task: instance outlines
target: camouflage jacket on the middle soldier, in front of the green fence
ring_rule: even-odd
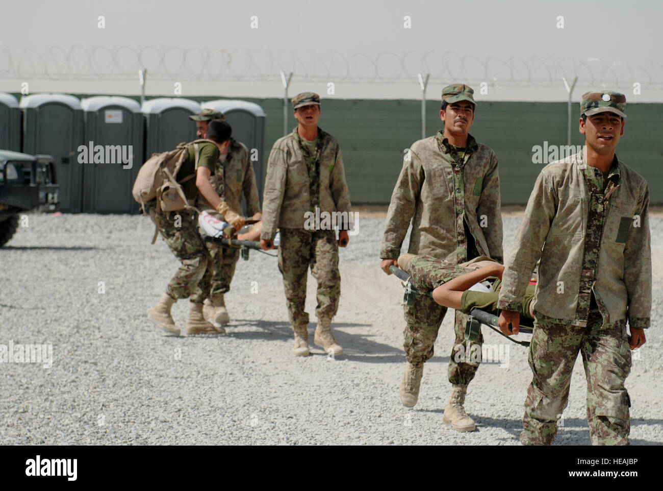
[[[267,162],[263,193],[261,239],[271,240],[276,228],[304,228],[311,211],[309,165],[298,142],[297,129],[276,140]],[[320,212],[351,213],[350,193],[345,182],[343,157],[338,141],[318,128],[321,142],[319,179]],[[345,216],[347,216],[345,215]]]

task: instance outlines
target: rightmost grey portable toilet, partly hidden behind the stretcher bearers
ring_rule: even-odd
[[[267,172],[267,156],[265,149],[265,111],[253,102],[219,99],[204,102],[203,109],[221,111],[225,120],[233,127],[233,138],[241,141],[249,149],[249,159],[253,164],[258,194],[261,204],[263,200],[263,183]]]

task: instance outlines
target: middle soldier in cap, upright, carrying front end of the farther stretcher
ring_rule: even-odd
[[[338,141],[318,127],[320,97],[304,92],[292,98],[292,106],[298,125],[290,135],[276,140],[267,163],[261,247],[272,246],[278,227],[278,269],[283,275],[294,330],[292,352],[296,356],[309,354],[304,303],[310,266],[318,280],[314,342],[326,352],[338,355],[343,348],[331,333],[331,318],[336,314],[341,294],[338,246],[345,247],[349,240],[350,194]],[[329,220],[324,220],[324,216],[338,216],[337,213],[343,217],[338,242]],[[312,223],[313,216],[323,220]]]

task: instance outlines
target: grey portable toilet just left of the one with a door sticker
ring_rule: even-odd
[[[23,96],[23,153],[53,156],[55,182],[60,185],[60,210],[82,211],[83,166],[78,147],[83,145],[83,109],[80,100],[64,94]]]

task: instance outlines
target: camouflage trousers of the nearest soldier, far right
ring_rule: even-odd
[[[587,377],[587,423],[592,445],[629,445],[631,400],[624,386],[631,372],[625,320],[604,324],[592,312],[586,327],[559,324],[536,315],[529,363],[523,445],[552,445],[557,419],[569,399],[571,374],[580,352]]]

